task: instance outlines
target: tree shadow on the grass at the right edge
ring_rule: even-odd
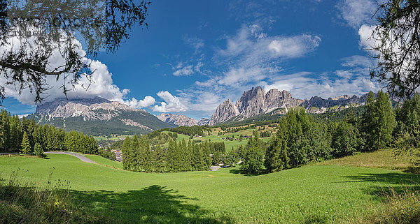
[[[389,195],[401,195],[420,191],[420,175],[409,173],[389,172],[384,174],[358,174],[346,176],[351,179],[345,182],[372,182],[381,185],[366,188],[366,193],[384,200]]]

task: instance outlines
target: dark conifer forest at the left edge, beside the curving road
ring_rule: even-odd
[[[83,154],[98,154],[97,143],[92,136],[77,131],[66,133],[62,128],[37,124],[34,119],[19,119],[6,110],[0,112],[0,151],[34,152],[75,151]]]

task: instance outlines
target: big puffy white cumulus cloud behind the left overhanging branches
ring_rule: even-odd
[[[30,38],[28,41],[32,41]],[[10,45],[1,45],[0,53],[8,52],[10,50],[18,50],[20,47],[21,40],[19,37],[10,38]],[[147,107],[151,105],[151,98],[146,97],[144,100],[124,100],[125,96],[130,92],[129,89],[120,89],[113,84],[112,73],[109,72],[108,67],[101,61],[88,59],[85,56],[85,52],[81,48],[81,44],[78,43],[78,54],[83,57],[85,64],[89,65],[90,70],[93,71],[92,75],[82,75],[78,83],[72,86],[69,82],[71,81],[66,76],[71,77],[71,74],[62,74],[57,80],[55,76],[47,75],[45,83],[48,84],[48,89],[44,91],[43,97],[45,102],[52,101],[55,98],[93,98],[99,96],[108,100],[115,100],[121,103],[127,103],[134,107]],[[28,49],[30,52],[34,49]],[[51,68],[57,68],[65,64],[62,55],[59,52],[59,47],[55,47],[51,57],[48,59],[48,64]],[[31,93],[30,89],[20,89],[15,84],[7,84],[8,79],[4,75],[0,75],[0,84],[5,89],[6,97],[15,98],[20,103],[25,105],[35,105],[35,95]],[[64,95],[63,86],[69,89],[67,95]],[[153,99],[154,100],[154,99]]]

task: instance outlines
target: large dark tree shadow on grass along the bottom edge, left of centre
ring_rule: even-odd
[[[212,217],[177,191],[153,185],[140,191],[73,191],[79,207],[112,216],[118,223],[235,223],[230,217]]]

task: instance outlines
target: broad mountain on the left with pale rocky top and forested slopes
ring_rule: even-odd
[[[55,98],[36,107],[34,118],[41,124],[52,124],[64,130],[79,130],[90,135],[140,135],[176,125],[160,121],[146,110],[134,109],[104,98]]]

